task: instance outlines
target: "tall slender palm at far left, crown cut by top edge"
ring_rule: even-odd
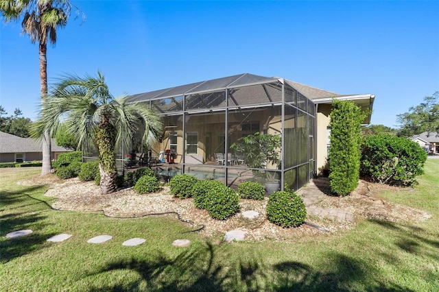
[[[0,0],[0,12],[5,22],[21,19],[23,33],[31,42],[38,42],[40,56],[41,98],[47,95],[47,40],[56,43],[56,29],[67,25],[71,12],[71,2],[67,0]],[[51,145],[49,133],[42,136],[43,167],[41,175],[51,170]]]

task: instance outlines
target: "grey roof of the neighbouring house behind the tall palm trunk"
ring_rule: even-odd
[[[0,132],[0,153],[29,153],[41,152],[41,142],[35,138],[22,138],[5,132]],[[51,139],[51,151],[71,151],[56,145],[55,139]]]

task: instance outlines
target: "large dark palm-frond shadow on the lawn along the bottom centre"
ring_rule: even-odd
[[[99,273],[116,270],[135,271],[140,279],[102,287],[97,284],[89,291],[411,291],[389,280],[379,282],[376,269],[368,263],[340,253],[328,253],[322,258],[327,271],[318,271],[304,263],[285,261],[276,265],[252,260],[216,260],[222,256],[217,247],[183,250],[176,258],[157,254],[150,260],[122,260],[108,263]],[[108,280],[111,282],[111,280]]]

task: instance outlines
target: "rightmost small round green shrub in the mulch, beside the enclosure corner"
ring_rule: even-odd
[[[307,217],[302,198],[286,191],[276,191],[270,195],[266,212],[270,222],[284,228],[300,226]]]

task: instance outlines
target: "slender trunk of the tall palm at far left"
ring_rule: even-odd
[[[41,85],[41,99],[47,96],[47,44],[40,42],[38,45],[38,53],[40,54],[40,85]],[[43,139],[43,167],[41,168],[41,175],[47,175],[51,172],[51,141],[49,131],[45,130]]]

